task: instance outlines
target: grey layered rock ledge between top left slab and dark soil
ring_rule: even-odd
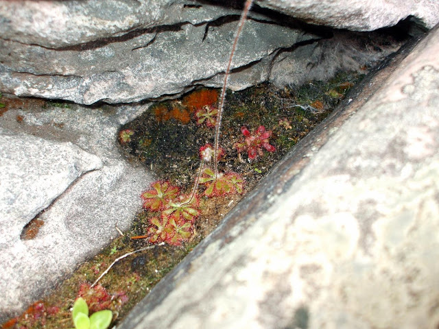
[[[224,71],[236,23],[211,27],[185,24],[87,50],[60,51],[2,40],[0,90],[85,104],[182,93]],[[279,48],[311,38],[319,37],[248,21],[233,68],[257,63]],[[256,79],[245,82],[244,87],[261,82],[258,75],[253,77]]]

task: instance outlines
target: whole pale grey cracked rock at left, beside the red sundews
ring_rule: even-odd
[[[146,108],[49,105],[3,113],[0,321],[97,254],[119,234],[115,226],[130,226],[152,178],[121,156],[117,131]],[[36,236],[21,238],[34,217],[43,226]]]

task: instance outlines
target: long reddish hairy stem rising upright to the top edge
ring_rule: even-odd
[[[219,149],[219,132],[221,131],[222,112],[224,110],[224,101],[226,99],[226,88],[228,83],[228,77],[230,75],[230,68],[232,66],[232,60],[233,60],[233,56],[235,55],[235,50],[238,44],[239,35],[242,32],[244,23],[246,22],[247,19],[247,14],[250,11],[250,8],[252,7],[252,3],[253,0],[247,0],[246,3],[244,4],[244,9],[242,10],[241,13],[241,19],[239,19],[235,40],[233,40],[232,50],[230,51],[230,57],[228,58],[227,69],[226,69],[226,73],[224,74],[224,82],[222,85],[221,95],[219,96],[217,123],[215,125],[215,153],[214,153],[215,158],[213,159],[214,168],[215,168],[215,179],[217,179],[217,175],[218,175],[217,155]]]

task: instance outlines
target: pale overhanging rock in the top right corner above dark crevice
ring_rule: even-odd
[[[307,23],[372,31],[396,25],[407,17],[431,29],[439,23],[439,3],[435,0],[255,0],[257,5],[302,19]]]

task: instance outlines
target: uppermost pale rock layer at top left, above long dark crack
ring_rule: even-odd
[[[187,0],[0,1],[2,39],[61,48],[130,38],[130,32],[163,25],[199,25],[239,14],[209,3]]]

